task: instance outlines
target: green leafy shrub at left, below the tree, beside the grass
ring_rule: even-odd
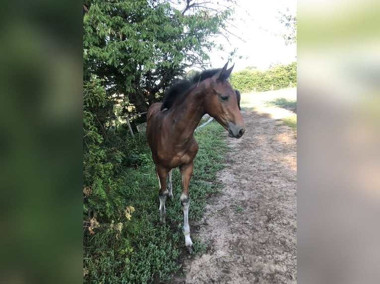
[[[112,217],[116,200],[109,193],[115,185],[114,174],[125,156],[107,141],[109,130],[104,125],[110,105],[100,82],[93,78],[83,88],[83,206],[89,216],[85,218],[87,221],[96,215],[107,216],[107,221]]]

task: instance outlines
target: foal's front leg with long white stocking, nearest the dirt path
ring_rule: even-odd
[[[190,183],[190,177],[192,174],[192,170],[194,168],[193,162],[190,162],[189,164],[182,165],[180,167],[181,172],[181,182],[182,182],[182,194],[180,197],[181,205],[182,205],[182,211],[184,213],[184,223],[182,232],[185,236],[185,246],[188,249],[188,252],[191,253],[191,245],[192,241],[190,238],[190,226],[189,226],[189,203],[190,203],[190,196],[189,196],[189,183]]]

